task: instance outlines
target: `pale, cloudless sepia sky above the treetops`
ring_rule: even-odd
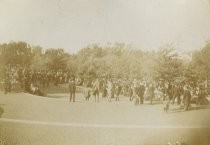
[[[210,41],[209,0],[0,0],[0,43],[78,52],[98,43],[181,52]]]

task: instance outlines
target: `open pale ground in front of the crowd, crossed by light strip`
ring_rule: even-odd
[[[161,102],[135,106],[121,97],[95,103],[77,93],[70,103],[63,92],[48,96],[0,92],[0,145],[210,144],[209,106],[183,112],[174,105],[164,113]]]

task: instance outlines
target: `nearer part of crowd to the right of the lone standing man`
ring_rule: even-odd
[[[129,101],[135,105],[143,104],[148,100],[153,104],[154,100],[163,101],[164,110],[167,112],[170,104],[182,105],[184,110],[191,108],[191,103],[196,105],[208,104],[206,97],[207,90],[203,85],[192,86],[191,83],[184,82],[148,82],[146,80],[126,80],[126,79],[95,79],[84,82],[84,97],[89,100],[91,96],[99,102],[102,99],[119,101],[119,96],[127,96]],[[70,85],[71,86],[71,85]]]

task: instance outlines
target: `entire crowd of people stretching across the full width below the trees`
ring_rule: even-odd
[[[43,96],[40,89],[49,85],[68,84],[70,101],[75,102],[76,88],[83,86],[86,101],[94,97],[96,102],[106,99],[120,101],[121,96],[129,98],[135,105],[144,104],[148,100],[153,104],[154,100],[163,101],[164,110],[167,112],[170,104],[183,105],[184,110],[189,110],[191,103],[197,105],[208,104],[207,91],[203,85],[191,85],[190,82],[175,81],[148,81],[146,79],[117,79],[117,78],[95,78],[81,79],[72,75],[69,71],[33,70],[27,67],[13,66],[1,68],[3,74],[1,84],[4,86],[5,94],[15,87],[25,92]]]

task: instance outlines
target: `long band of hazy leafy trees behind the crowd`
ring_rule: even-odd
[[[91,44],[75,54],[62,48],[43,49],[26,42],[0,44],[0,65],[34,70],[70,71],[83,78],[146,78],[167,81],[205,81],[210,74],[210,43],[183,59],[173,46],[143,51],[124,43]],[[3,74],[3,73],[1,73]]]

